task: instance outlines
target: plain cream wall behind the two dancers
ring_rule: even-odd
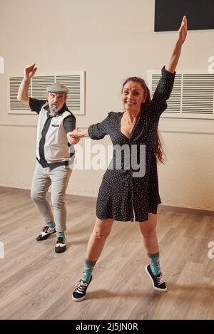
[[[88,127],[121,110],[121,84],[147,79],[170,56],[177,33],[154,33],[154,0],[1,0],[0,185],[31,187],[36,115],[8,115],[6,78],[36,62],[39,73],[86,71]],[[189,31],[178,69],[207,71],[214,31]],[[168,160],[159,168],[163,204],[213,209],[214,120],[161,119]],[[105,145],[109,139],[103,140]],[[95,142],[97,144],[97,142]],[[74,171],[68,193],[96,196],[103,171]]]

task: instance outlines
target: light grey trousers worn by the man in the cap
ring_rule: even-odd
[[[65,196],[69,178],[72,169],[69,166],[60,166],[54,169],[43,168],[39,162],[36,162],[36,169],[31,186],[31,199],[34,201],[37,209],[44,217],[45,223],[54,221],[56,231],[66,231],[66,206]],[[46,199],[46,193],[51,185],[51,203],[54,209],[54,215]]]

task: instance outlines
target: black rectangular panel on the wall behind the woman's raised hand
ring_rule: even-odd
[[[177,31],[184,15],[188,30],[214,29],[214,0],[156,0],[155,31]]]

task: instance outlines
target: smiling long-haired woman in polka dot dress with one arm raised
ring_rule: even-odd
[[[122,158],[123,166],[116,168],[116,159],[113,158],[114,165],[111,164],[111,168],[108,167],[103,176],[96,205],[96,223],[88,241],[81,279],[73,291],[73,301],[83,301],[86,298],[93,267],[101,255],[114,220],[138,221],[150,262],[146,266],[146,273],[156,291],[167,291],[161,274],[156,236],[157,207],[161,203],[158,193],[157,160],[163,162],[158,121],[161,113],[167,108],[166,100],[173,89],[175,68],[186,35],[187,19],[184,16],[172,56],[162,69],[162,76],[152,100],[144,80],[128,78],[123,83],[123,113],[109,113],[103,122],[91,125],[88,130],[77,128],[71,134],[73,144],[81,137],[89,136],[99,140],[105,135],[110,135],[113,147],[137,147],[138,159],[141,146],[146,145],[146,172],[143,176],[133,168],[124,168],[124,164],[127,163],[126,153]],[[133,155],[132,150],[130,152]],[[129,155],[129,162],[130,158]]]

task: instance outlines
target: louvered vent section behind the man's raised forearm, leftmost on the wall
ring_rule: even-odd
[[[11,110],[29,110],[23,103],[17,100],[17,94],[22,80],[23,77],[9,78]],[[31,96],[31,85],[29,86],[29,96]]]

